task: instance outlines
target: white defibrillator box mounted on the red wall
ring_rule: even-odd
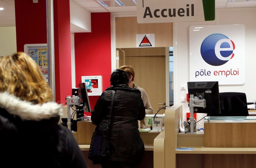
[[[82,76],[82,82],[85,82],[88,96],[102,94],[102,76]]]

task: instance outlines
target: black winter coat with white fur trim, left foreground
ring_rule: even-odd
[[[61,111],[55,102],[32,104],[0,93],[1,167],[86,168],[73,134],[58,124]]]

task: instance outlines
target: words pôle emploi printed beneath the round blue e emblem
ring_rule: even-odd
[[[213,72],[214,76],[226,76],[228,77],[229,75],[239,75],[239,70],[227,70],[227,71],[214,71]],[[205,69],[201,69],[200,72],[196,71],[196,77],[197,76],[211,76],[211,71],[206,71]]]

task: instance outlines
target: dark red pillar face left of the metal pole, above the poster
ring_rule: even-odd
[[[15,0],[17,51],[24,44],[47,43],[46,1]]]

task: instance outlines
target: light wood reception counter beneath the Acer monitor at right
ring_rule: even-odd
[[[165,131],[154,141],[155,168],[255,168],[256,120],[205,120],[204,132],[179,132],[181,106],[165,111]],[[179,150],[186,147],[193,150]]]

